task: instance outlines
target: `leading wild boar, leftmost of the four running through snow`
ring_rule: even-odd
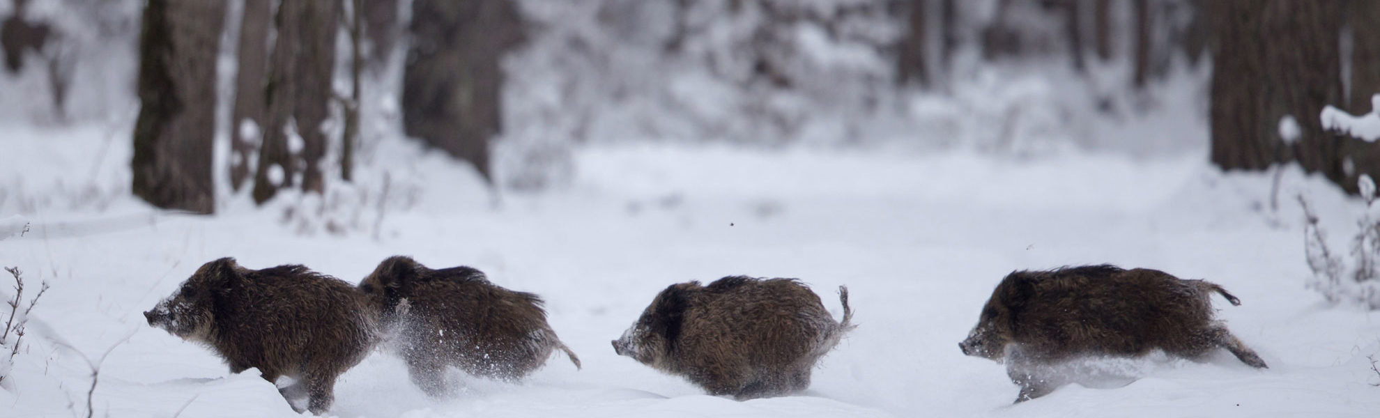
[[[306,397],[313,414],[330,410],[335,378],[368,355],[378,320],[349,283],[299,265],[251,270],[233,258],[201,265],[144,317],[210,346],[232,372],[257,367],[269,382],[297,379],[279,392],[298,412],[294,401]]]

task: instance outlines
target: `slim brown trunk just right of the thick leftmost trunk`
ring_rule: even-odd
[[[235,110],[230,113],[230,188],[239,190],[250,177],[255,139],[264,137],[264,73],[268,72],[268,29],[273,19],[269,0],[244,0],[240,22],[239,73]],[[244,138],[241,124],[254,123],[259,138]]]

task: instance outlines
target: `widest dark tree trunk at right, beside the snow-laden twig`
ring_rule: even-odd
[[[1264,170],[1294,159],[1357,192],[1358,172],[1377,172],[1373,146],[1323,132],[1325,105],[1341,103],[1340,1],[1209,1],[1213,28],[1212,161]],[[1293,116],[1301,138],[1285,148],[1278,124]],[[1347,170],[1347,167],[1352,167]]]

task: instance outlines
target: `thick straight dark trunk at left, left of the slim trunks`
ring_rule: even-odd
[[[149,0],[139,36],[134,195],[161,208],[215,211],[215,57],[225,3]]]

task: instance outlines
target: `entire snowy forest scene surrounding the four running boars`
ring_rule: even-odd
[[[1377,30],[1380,1],[0,0],[0,417],[298,415],[145,312],[224,257],[355,286],[392,255],[540,295],[581,367],[435,396],[393,335],[326,415],[1373,417]],[[1098,263],[1220,284],[1268,368],[1085,356],[1013,404],[959,342],[1013,270]],[[737,275],[835,320],[849,288],[809,389],[610,346]]]

